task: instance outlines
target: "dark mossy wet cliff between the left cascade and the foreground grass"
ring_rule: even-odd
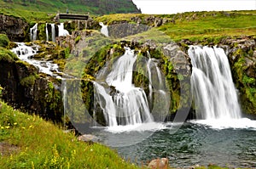
[[[61,92],[38,70],[21,61],[1,60],[3,99],[15,108],[59,122],[63,115]]]

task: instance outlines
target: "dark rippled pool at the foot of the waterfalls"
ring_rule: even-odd
[[[255,128],[214,129],[187,122],[176,131],[172,125],[169,126],[154,132],[106,132],[102,129],[95,134],[104,144],[116,149],[119,155],[138,164],[168,157],[170,166],[174,167],[207,166],[210,163],[229,167],[256,167]]]

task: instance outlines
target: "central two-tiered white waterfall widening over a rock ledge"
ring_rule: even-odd
[[[102,108],[109,127],[153,121],[146,93],[132,84],[132,70],[136,59],[137,55],[130,48],[125,48],[125,54],[119,57],[108,73],[108,85],[94,83],[95,103]],[[106,86],[114,89],[109,92],[109,87]]]

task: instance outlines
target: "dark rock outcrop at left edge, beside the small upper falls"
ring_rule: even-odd
[[[26,21],[0,14],[0,33],[6,34],[10,41],[23,42],[25,40],[25,31],[28,28]]]

